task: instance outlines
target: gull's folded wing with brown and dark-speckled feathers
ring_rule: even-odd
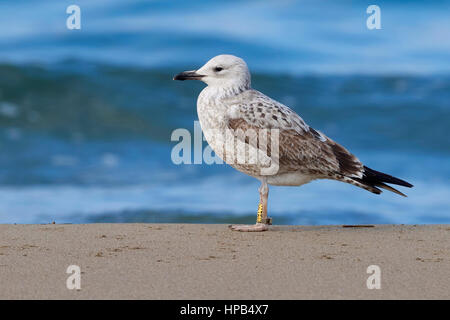
[[[336,174],[355,178],[362,176],[363,165],[348,150],[309,127],[287,106],[256,90],[249,91],[235,103],[231,101],[233,108],[228,128],[235,131],[278,129],[279,173],[300,171],[323,178],[334,178]]]

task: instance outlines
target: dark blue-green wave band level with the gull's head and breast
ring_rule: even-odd
[[[202,88],[175,83],[174,73],[83,62],[0,65],[0,143],[21,133],[169,143],[174,129],[192,129]],[[257,73],[253,84],[350,147],[450,152],[450,76]]]

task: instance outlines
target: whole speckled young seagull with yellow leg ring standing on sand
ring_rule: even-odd
[[[200,80],[207,85],[197,100],[198,118],[206,141],[227,164],[261,181],[256,224],[231,225],[231,230],[269,229],[272,219],[267,216],[268,185],[301,186],[316,179],[331,179],[375,194],[385,189],[405,197],[387,183],[412,187],[404,180],[366,167],[343,146],[307,125],[292,109],[252,89],[247,64],[239,57],[218,55],[200,69],[181,72],[173,80]],[[221,130],[233,135],[217,134]],[[258,135],[256,143],[255,139],[236,134],[248,130],[270,132],[266,133],[265,140],[264,135]],[[267,140],[275,136],[275,148],[272,144],[268,148]],[[236,161],[236,155],[228,157],[231,153],[224,151],[224,144],[235,139],[247,147],[245,155],[256,149],[258,159],[261,153],[263,159],[242,163]],[[237,155],[239,152],[242,150]],[[263,167],[269,166],[268,160],[276,163],[273,166],[276,170],[263,172]]]

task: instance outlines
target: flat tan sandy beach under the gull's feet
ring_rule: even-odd
[[[449,225],[0,225],[0,298],[449,299],[449,249]]]

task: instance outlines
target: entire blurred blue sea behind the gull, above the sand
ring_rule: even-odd
[[[408,198],[340,182],[271,187],[276,224],[450,223],[450,3],[78,0],[0,3],[0,223],[254,222],[259,182],[171,161],[200,82],[230,53],[252,84]],[[204,142],[206,147],[206,142]]]

